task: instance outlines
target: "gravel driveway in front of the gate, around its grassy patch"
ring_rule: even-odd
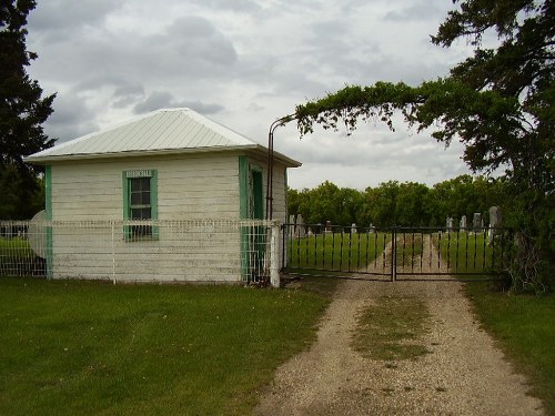
[[[383,296],[425,300],[431,353],[386,363],[351,347],[356,316]],[[344,281],[310,351],[276,373],[256,415],[543,415],[480,328],[456,282]]]

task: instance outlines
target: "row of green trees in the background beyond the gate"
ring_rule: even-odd
[[[422,183],[389,181],[357,191],[326,181],[314,189],[289,190],[290,215],[309,224],[360,226],[445,226],[447,216],[458,221],[482,213],[487,221],[493,205],[507,206],[503,181],[462,175],[428,187]],[[511,217],[508,219],[511,221]],[[455,224],[457,224],[455,222]]]

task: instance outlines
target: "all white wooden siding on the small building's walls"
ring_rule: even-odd
[[[239,220],[238,158],[228,152],[53,164],[52,220],[123,220],[122,173],[143,169],[158,171],[159,220]],[[250,158],[249,162],[263,170],[265,202],[265,161]],[[275,165],[273,173],[274,220],[283,222],[284,169]],[[110,278],[115,267],[120,278],[129,281],[241,282],[240,235],[210,227],[183,233],[160,227],[159,240],[129,242],[122,227],[113,234],[53,233],[53,277]],[[114,262],[110,247],[120,253]]]

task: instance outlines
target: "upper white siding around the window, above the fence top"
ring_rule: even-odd
[[[236,155],[87,161],[52,166],[52,219],[123,219],[122,172],[158,170],[160,220],[239,219]]]

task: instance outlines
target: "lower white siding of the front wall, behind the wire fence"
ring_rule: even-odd
[[[125,241],[123,226],[54,227],[53,277],[241,282],[238,226],[162,224],[159,240],[141,242]]]

